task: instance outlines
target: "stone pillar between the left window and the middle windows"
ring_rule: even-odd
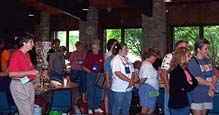
[[[89,8],[87,21],[80,20],[79,39],[89,48],[91,42],[98,39],[98,10]]]

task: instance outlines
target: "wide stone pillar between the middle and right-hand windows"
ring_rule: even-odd
[[[166,9],[164,0],[153,0],[153,16],[142,15],[144,48],[159,48],[166,53]]]

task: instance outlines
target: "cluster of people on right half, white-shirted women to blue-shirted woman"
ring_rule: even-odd
[[[128,47],[114,41],[105,57],[108,74],[109,112],[112,115],[127,115],[132,99],[132,88],[138,88],[141,113],[152,115],[159,96],[160,83],[164,81],[165,115],[206,115],[213,109],[217,77],[209,57],[210,42],[198,39],[194,53],[187,41],[176,43],[173,52],[164,56],[160,67],[160,51],[148,48],[142,53],[141,66],[134,67],[128,61]],[[110,56],[109,56],[110,54]],[[109,93],[110,92],[110,93]],[[190,111],[191,110],[191,111]]]

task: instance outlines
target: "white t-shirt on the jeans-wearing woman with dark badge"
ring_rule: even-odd
[[[111,90],[114,92],[126,92],[131,91],[132,87],[128,88],[129,82],[121,80],[116,74],[116,71],[120,71],[125,76],[131,79],[132,72],[134,72],[134,67],[132,63],[129,63],[128,60],[120,55],[116,55],[112,61],[111,61],[111,67],[112,67],[112,86]],[[130,72],[126,73],[125,67],[129,67]]]

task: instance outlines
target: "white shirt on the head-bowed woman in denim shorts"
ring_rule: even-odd
[[[141,65],[139,78],[147,78],[145,84],[149,84],[155,89],[159,89],[159,80],[157,70],[153,67],[153,65],[147,61],[144,61]]]

